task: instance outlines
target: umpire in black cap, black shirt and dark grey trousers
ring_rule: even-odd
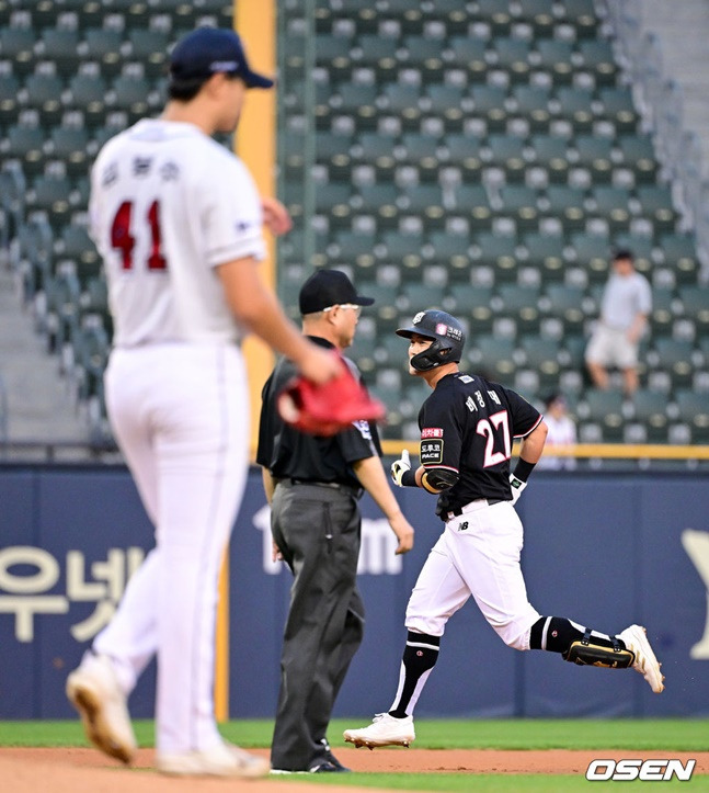
[[[342,351],[352,344],[362,306],[373,303],[356,293],[345,273],[318,270],[300,290],[302,330],[317,344]],[[282,772],[346,771],[330,751],[327,732],[364,632],[356,587],[363,491],[389,520],[397,554],[413,546],[413,529],[389,487],[374,424],[356,421],[323,438],[281,420],[275,400],[295,373],[282,359],[264,385],[256,453],[272,507],[274,554],[295,575],[271,766]]]

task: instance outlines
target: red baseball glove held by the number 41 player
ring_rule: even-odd
[[[312,435],[334,435],[353,421],[385,415],[384,405],[367,394],[344,360],[341,374],[322,385],[294,377],[278,395],[277,407],[287,424]]]

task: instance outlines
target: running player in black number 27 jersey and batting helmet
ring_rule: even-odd
[[[470,596],[510,647],[559,653],[579,665],[632,667],[662,692],[664,678],[643,627],[603,634],[565,618],[542,616],[527,599],[519,566],[523,526],[514,505],[541,456],[547,435],[541,415],[514,390],[459,371],[465,333],[449,314],[421,311],[397,333],[410,340],[409,373],[425,379],[433,394],[419,414],[421,465],[413,471],[404,452],[391,477],[400,487],[436,495],[445,529],[409,600],[393,703],[369,726],[345,730],[345,740],[374,748],[408,746],[415,738],[413,711],[441,637]],[[511,473],[515,439],[522,443]]]

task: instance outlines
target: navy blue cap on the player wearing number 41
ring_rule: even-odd
[[[233,31],[198,27],[183,36],[170,54],[170,75],[175,80],[236,75],[247,88],[271,88],[273,80],[249,68],[241,38]]]

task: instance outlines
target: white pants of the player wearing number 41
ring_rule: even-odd
[[[237,347],[160,344],[111,354],[106,406],[156,548],[94,649],[129,693],[158,654],[157,749],[206,749],[214,717],[218,577],[248,472],[247,377]]]

